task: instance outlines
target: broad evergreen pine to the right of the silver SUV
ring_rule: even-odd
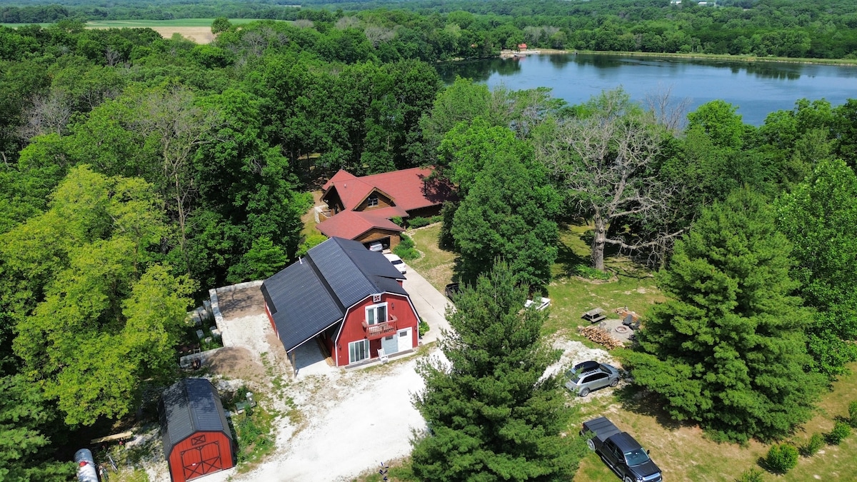
[[[806,370],[812,311],[789,296],[788,240],[758,195],[740,190],[706,210],[675,245],[629,355],[636,382],[680,420],[720,437],[782,437],[806,420],[821,379]]]

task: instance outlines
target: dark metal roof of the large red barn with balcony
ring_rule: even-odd
[[[330,238],[262,283],[279,339],[291,352],[341,322],[345,310],[372,294],[407,295],[404,276],[384,255],[345,238]]]

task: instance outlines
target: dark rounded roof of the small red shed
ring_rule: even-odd
[[[164,454],[198,431],[222,431],[232,439],[220,395],[205,378],[185,378],[164,390],[158,405]]]

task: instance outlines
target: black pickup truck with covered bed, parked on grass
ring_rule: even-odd
[[[601,460],[622,479],[623,482],[660,482],[661,469],[649,458],[649,451],[613,422],[598,417],[584,422],[580,435],[592,436],[586,443],[591,450],[601,455]]]

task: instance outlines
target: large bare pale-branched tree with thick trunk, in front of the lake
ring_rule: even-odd
[[[603,270],[607,244],[642,250],[664,244],[680,232],[662,232],[654,240],[622,233],[608,238],[616,220],[634,216],[655,224],[668,209],[671,190],[649,169],[662,144],[654,117],[632,105],[621,90],[602,93],[590,107],[595,108],[591,116],[557,124],[553,136],[538,142],[536,152],[570,191],[578,211],[592,217],[592,267]]]

